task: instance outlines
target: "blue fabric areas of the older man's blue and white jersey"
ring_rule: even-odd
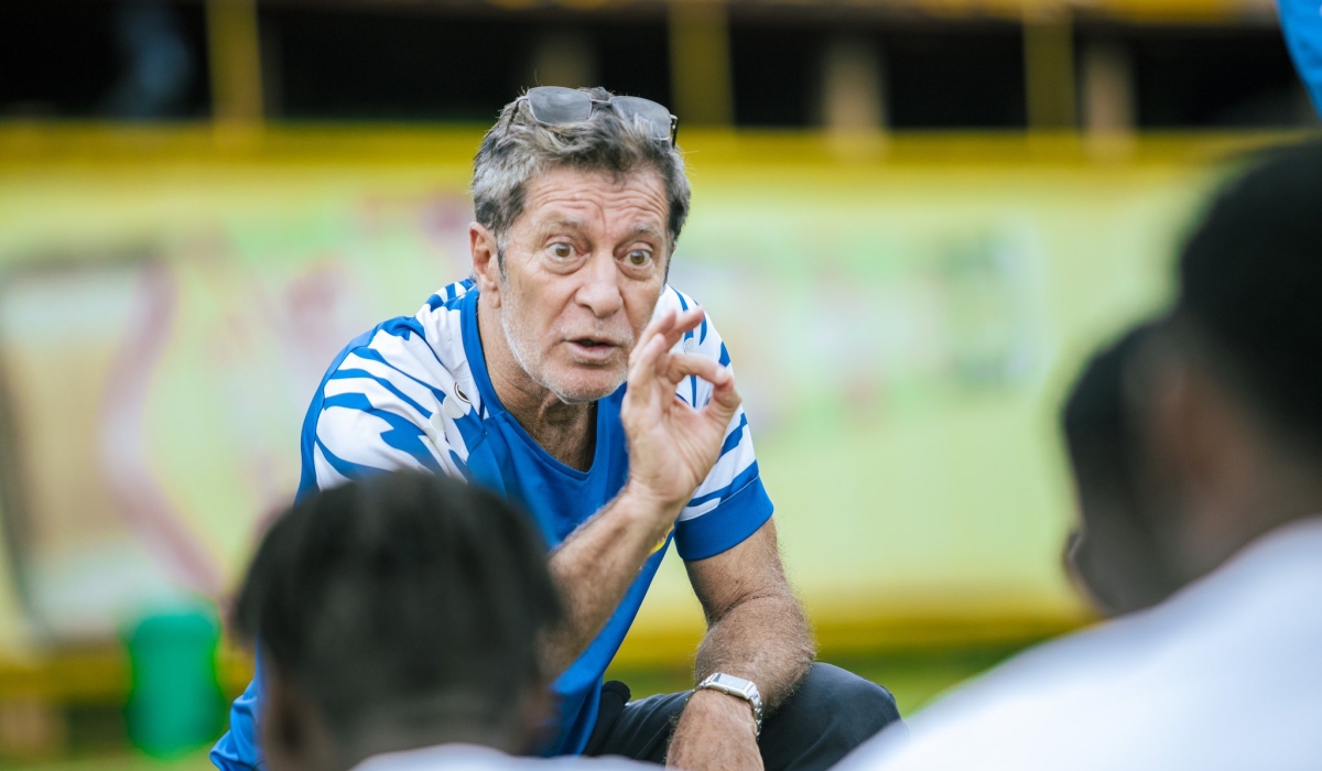
[[[680,296],[678,292],[676,296]],[[628,454],[624,427],[620,423],[624,387],[621,386],[616,393],[598,402],[596,447],[591,468],[583,472],[559,463],[524,431],[513,415],[505,411],[496,395],[481,353],[481,337],[477,331],[477,291],[468,286],[461,286],[459,291],[451,287],[428,298],[423,311],[457,309],[460,312],[463,354],[479,390],[477,402],[483,406],[480,415],[473,411],[455,421],[455,426],[467,446],[467,458],[460,460],[453,448],[447,450],[447,456],[465,479],[522,504],[537,522],[547,544],[555,548],[588,517],[615,499],[624,487],[628,476]],[[418,403],[418,401],[406,397],[399,387],[395,387],[398,384],[385,382],[381,376],[370,376],[353,368],[341,369],[345,358],[350,354],[393,366],[386,357],[370,348],[371,341],[382,332],[403,339],[408,339],[411,335],[426,337],[427,328],[415,319],[386,321],[354,339],[332,362],[304,419],[303,472],[297,493],[300,500],[320,488],[321,483],[319,483],[315,467],[317,452],[336,473],[345,477],[361,477],[385,471],[386,464],[377,468],[341,459],[332,447],[328,447],[319,438],[319,421],[323,418],[323,411],[329,407],[356,410],[371,415],[385,428],[377,436],[364,438],[364,442],[377,442],[383,451],[407,454],[424,467],[436,468],[436,458],[427,450],[424,430],[408,422],[402,414],[373,406],[366,394],[340,393],[325,397],[328,382],[342,384],[358,378],[383,387],[385,393],[398,398],[410,410],[416,410],[423,417],[432,415],[432,407],[436,405]],[[707,335],[706,323],[699,333],[703,337]],[[428,356],[435,356],[435,352]],[[715,356],[715,349],[713,356]],[[722,364],[728,364],[728,354],[723,344],[719,348],[719,357]],[[453,365],[455,362],[451,362],[451,366]],[[393,369],[397,369],[401,378],[408,377],[420,382],[414,376],[398,372],[398,368],[393,366]],[[395,374],[391,374],[391,378],[394,377]],[[444,389],[438,389],[432,384],[422,385],[434,391],[438,402],[447,398]],[[690,384],[685,391],[690,399],[697,399],[695,384]],[[722,454],[738,452],[746,434],[747,419],[740,415],[724,442]],[[345,446],[341,447],[345,454],[352,454]],[[715,501],[715,508],[701,514],[690,514],[676,524],[672,536],[644,563],[637,579],[627,591],[602,633],[551,685],[558,697],[559,726],[554,731],[555,739],[546,750],[547,755],[580,754],[587,746],[596,725],[602,676],[633,623],[670,542],[674,541],[680,555],[685,559],[705,559],[740,544],[771,518],[771,499],[758,476],[758,466],[751,459],[751,450],[747,452],[748,466],[742,471],[728,472],[734,475],[732,479],[719,479],[718,481],[717,472],[714,472],[709,485],[715,488],[714,492],[695,496],[690,505],[711,505],[711,501]],[[256,715],[260,711],[260,701],[262,689],[260,677],[258,677],[234,702],[230,713],[230,733],[212,751],[212,760],[217,767],[226,771],[262,768],[260,752],[256,746]]]

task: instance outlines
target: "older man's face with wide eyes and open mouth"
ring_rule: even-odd
[[[570,403],[609,395],[665,287],[670,243],[656,172],[553,169],[509,229],[501,321],[533,381]]]

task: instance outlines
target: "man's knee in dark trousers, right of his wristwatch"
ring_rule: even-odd
[[[792,706],[791,706],[792,705]],[[813,664],[785,705],[800,719],[839,731],[845,741],[863,742],[900,718],[888,690],[832,664]]]

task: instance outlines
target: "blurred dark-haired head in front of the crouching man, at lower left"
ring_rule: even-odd
[[[559,614],[541,537],[477,485],[395,473],[317,493],[267,532],[235,606],[263,656],[267,767],[533,749],[537,641]]]

